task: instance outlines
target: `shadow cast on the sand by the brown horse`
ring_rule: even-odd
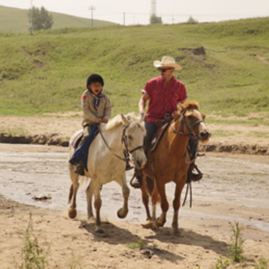
[[[192,230],[180,229],[179,235],[174,235],[171,228],[161,228],[155,235],[150,235],[147,239],[157,239],[166,243],[184,244],[188,246],[199,246],[205,250],[212,250],[218,255],[226,257],[228,255],[228,243],[212,239],[208,235],[200,235]]]

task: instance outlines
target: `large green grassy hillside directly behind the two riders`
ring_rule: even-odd
[[[269,111],[269,17],[221,23],[110,26],[0,34],[0,114],[80,111],[91,73],[113,114],[137,111],[152,62],[170,55],[206,114]],[[268,117],[268,113],[266,113]]]

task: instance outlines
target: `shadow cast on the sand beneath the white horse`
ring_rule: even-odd
[[[112,245],[118,245],[121,243],[126,245],[126,249],[128,249],[128,244],[137,243],[140,239],[138,235],[134,235],[132,232],[124,228],[119,228],[109,221],[102,222],[103,233],[94,232],[94,223],[87,223],[86,221],[81,221],[81,226],[79,226],[79,228],[82,228],[86,230],[86,232],[92,234],[94,236],[94,241],[109,243]],[[146,259],[151,259],[153,255],[157,255],[159,259],[168,260],[172,263],[185,259],[184,257],[169,252],[168,250],[161,250],[155,246],[150,246],[151,241],[152,240],[150,239],[144,240],[143,246],[139,248],[139,254],[137,255],[141,255]],[[130,252],[132,252],[131,249]],[[135,254],[132,253],[131,255]]]

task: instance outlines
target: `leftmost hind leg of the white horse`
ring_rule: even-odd
[[[69,163],[69,171],[71,178],[71,186],[68,195],[68,203],[71,203],[70,209],[68,211],[68,216],[70,219],[77,217],[77,190],[79,190],[79,175],[74,172],[74,166]]]

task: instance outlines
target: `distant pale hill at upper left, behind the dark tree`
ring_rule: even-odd
[[[52,14],[52,29],[69,27],[91,27],[90,19],[83,19],[66,14],[49,12]],[[115,23],[108,21],[93,20],[94,27],[112,26]],[[29,32],[30,23],[28,20],[28,10],[19,8],[8,8],[0,6],[0,31]]]

